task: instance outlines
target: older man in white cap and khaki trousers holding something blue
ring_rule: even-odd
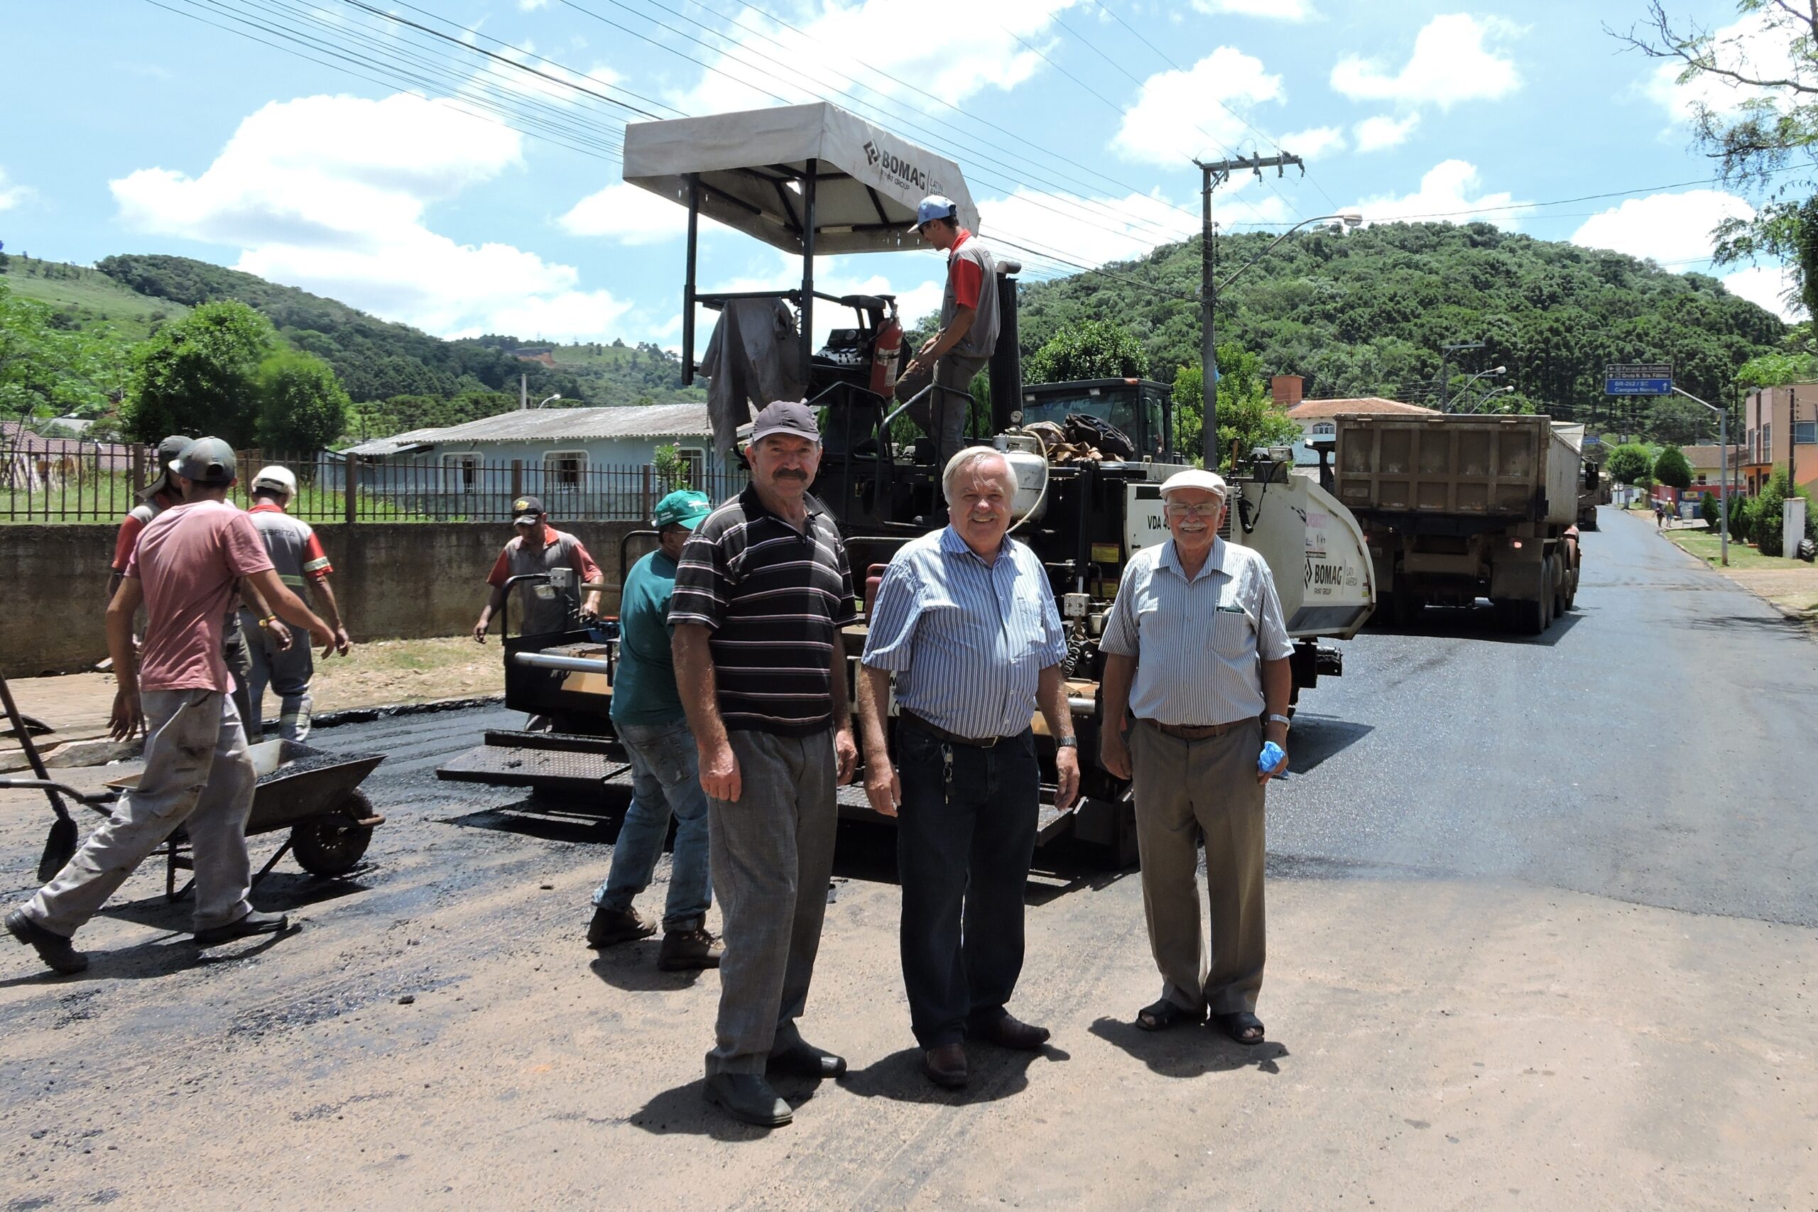
[[[1213,1023],[1262,1043],[1264,745],[1287,749],[1294,645],[1264,558],[1218,538],[1225,482],[1182,471],[1162,483],[1173,538],[1131,556],[1105,616],[1100,756],[1136,787],[1136,849],[1162,998],[1144,1030]],[[1127,720],[1134,716],[1134,723]],[[1125,743],[1124,732],[1129,730]],[[1205,836],[1211,961],[1200,932]]]

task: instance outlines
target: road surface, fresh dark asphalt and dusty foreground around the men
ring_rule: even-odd
[[[295,934],[202,958],[147,865],[87,974],[0,949],[0,1207],[1818,1207],[1818,645],[1603,527],[1547,636],[1431,611],[1304,696],[1258,1048],[1134,1030],[1138,879],[1044,856],[1013,1010],[1054,1039],[934,1090],[891,838],[844,827],[804,1032],[853,1072],[729,1123],[716,978],[582,945],[611,812],[433,778],[511,712],[404,716],[315,738],[387,754],[389,820],[260,885]],[[7,901],[47,821],[0,792]]]

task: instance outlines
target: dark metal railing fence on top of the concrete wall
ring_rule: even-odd
[[[634,522],[676,487],[714,503],[745,487],[745,474],[684,467],[671,482],[653,465],[591,467],[529,460],[458,458],[440,463],[360,462],[315,454],[238,452],[233,500],[251,505],[251,478],[265,463],[296,474],[289,512],[307,522],[504,522],[520,496],[553,520]],[[0,431],[0,522],[116,522],[158,474],[156,449],[38,438]]]

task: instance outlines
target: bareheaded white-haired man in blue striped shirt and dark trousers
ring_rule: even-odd
[[[1047,1043],[1045,1027],[1005,1008],[1024,961],[1038,705],[1056,743],[1062,810],[1080,765],[1054,592],[1034,552],[1005,536],[1016,494],[1009,462],[967,447],[947,460],[942,487],[947,527],[907,543],[884,571],[858,712],[865,794],[898,818],[904,985],[922,1068],[936,1085],[964,1087],[967,1036],[1007,1048]],[[900,774],[884,738],[891,674]]]

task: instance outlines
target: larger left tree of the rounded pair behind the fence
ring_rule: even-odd
[[[122,420],[140,442],[209,434],[235,447],[258,432],[258,369],[276,345],[245,303],[204,303],[142,347]]]

